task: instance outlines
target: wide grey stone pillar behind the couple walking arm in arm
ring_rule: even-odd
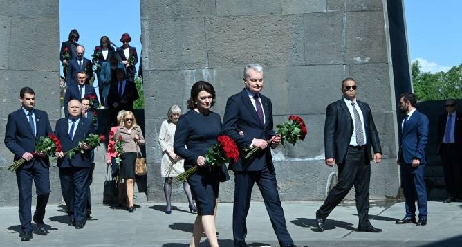
[[[387,10],[385,0],[141,1],[149,201],[163,201],[158,129],[168,107],[179,104],[187,111],[192,84],[207,80],[217,91],[213,111],[223,116],[226,99],[243,88],[243,66],[252,62],[264,66],[263,93],[272,99],[275,123],[297,114],[308,125],[303,143],[273,152],[282,200],[324,199],[336,172],[324,165],[325,111],[341,98],[344,77],[358,80],[358,98],[369,102],[380,133],[384,160],[372,165],[371,198],[395,197],[391,61],[407,46],[390,42],[389,18],[403,17],[402,8]],[[404,30],[402,24],[395,30]],[[400,83],[409,85],[409,78]],[[221,200],[232,201],[233,183],[221,185]],[[175,199],[185,201],[181,185],[176,188]],[[254,199],[260,199],[258,192]]]

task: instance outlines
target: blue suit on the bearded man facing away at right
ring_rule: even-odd
[[[418,217],[427,219],[427,190],[423,180],[423,171],[427,163],[425,147],[428,140],[428,125],[427,116],[416,110],[405,121],[404,129],[400,128],[398,163],[400,163],[401,184],[406,199],[407,218],[416,216],[417,195]],[[418,158],[420,165],[412,167],[413,158]]]

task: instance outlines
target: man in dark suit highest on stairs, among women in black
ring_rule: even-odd
[[[77,46],[76,53],[77,56],[69,61],[68,76],[66,76],[68,79],[67,86],[76,83],[77,73],[80,71],[86,72],[86,84],[89,84],[93,77],[93,62],[84,57],[84,46]]]

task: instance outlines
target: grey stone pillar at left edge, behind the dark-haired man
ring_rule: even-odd
[[[3,144],[6,120],[21,107],[23,86],[34,89],[35,107],[48,112],[52,127],[60,118],[59,4],[57,0],[0,0],[0,6],[0,205],[17,205],[16,176],[7,170],[13,155]],[[50,203],[61,201],[57,173],[56,167],[50,167]]]

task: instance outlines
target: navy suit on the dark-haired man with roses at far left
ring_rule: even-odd
[[[21,108],[8,115],[8,122],[5,130],[5,145],[15,154],[15,161],[19,160],[26,152],[34,152],[35,144],[40,136],[47,136],[51,133],[50,121],[45,111],[34,109],[35,129],[37,134],[34,137],[30,128],[29,120]],[[32,205],[32,180],[34,179],[37,193],[37,207],[35,217],[43,221],[45,207],[50,194],[50,174],[48,167],[50,162],[48,156],[35,156],[31,161],[16,170],[16,178],[19,189],[19,219],[21,229],[24,232],[32,232],[31,205]]]

